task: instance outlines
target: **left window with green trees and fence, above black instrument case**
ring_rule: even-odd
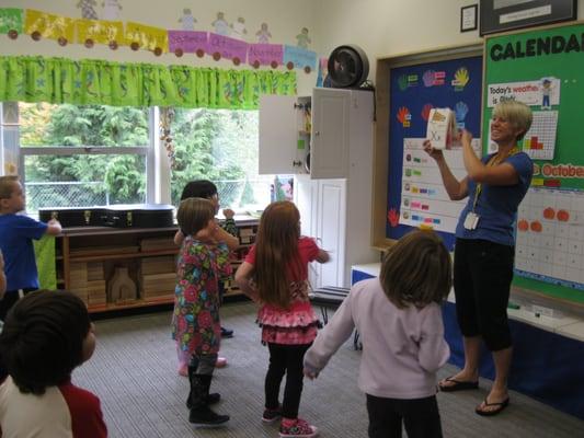
[[[153,169],[150,113],[19,103],[20,174],[27,211],[145,203]]]

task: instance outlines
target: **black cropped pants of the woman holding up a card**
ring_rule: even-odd
[[[482,336],[486,348],[511,347],[507,320],[515,247],[485,240],[457,239],[454,286],[463,336]]]

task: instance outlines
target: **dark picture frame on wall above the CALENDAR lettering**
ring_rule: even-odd
[[[481,0],[480,35],[575,20],[577,0]]]

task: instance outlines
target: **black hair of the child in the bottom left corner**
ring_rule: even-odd
[[[0,334],[0,354],[20,391],[41,395],[66,383],[83,361],[90,325],[85,304],[69,291],[37,290],[18,301]]]

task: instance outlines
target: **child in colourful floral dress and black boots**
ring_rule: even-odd
[[[221,339],[219,278],[231,274],[229,249],[219,241],[220,229],[210,200],[183,200],[176,219],[185,238],[178,264],[172,334],[181,350],[192,355],[188,420],[218,425],[229,420],[229,416],[209,408],[220,397],[209,395],[209,388]]]

